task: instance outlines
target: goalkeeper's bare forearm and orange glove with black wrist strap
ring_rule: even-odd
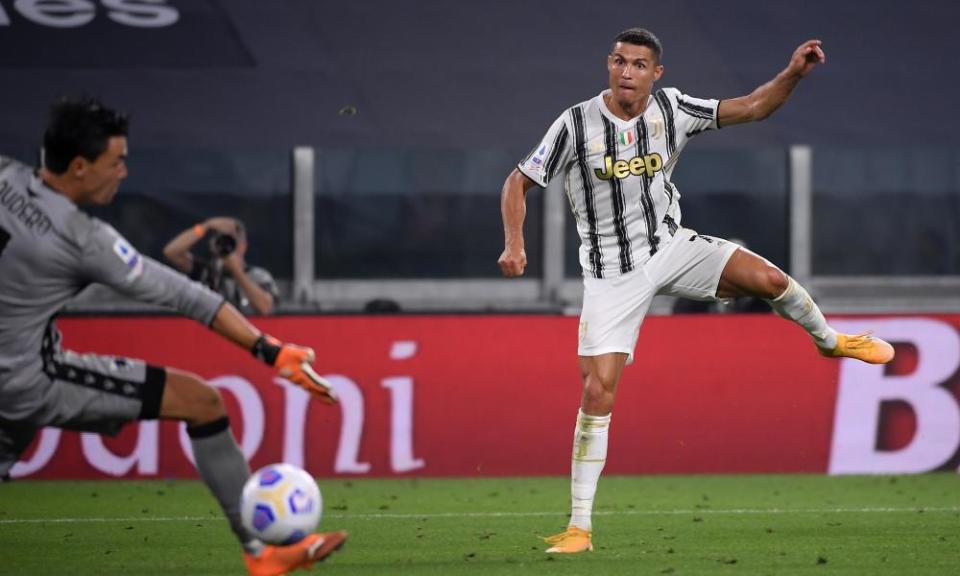
[[[250,350],[254,356],[269,366],[273,366],[280,376],[290,380],[318,400],[327,404],[337,402],[333,386],[313,369],[313,349],[284,344],[258,330],[239,310],[229,302],[213,317],[210,325],[214,332],[234,344]]]

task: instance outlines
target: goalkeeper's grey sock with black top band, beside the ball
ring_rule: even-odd
[[[230,432],[226,416],[207,424],[187,427],[197,472],[220,503],[230,528],[244,550],[259,554],[263,544],[247,532],[240,520],[240,495],[250,477],[250,467]]]

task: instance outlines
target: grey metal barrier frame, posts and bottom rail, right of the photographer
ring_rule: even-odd
[[[813,151],[809,146],[788,150],[791,275],[808,287],[827,312],[960,311],[958,277],[836,277],[817,276],[812,270]],[[294,151],[294,204],[308,206],[314,194],[312,149]],[[300,179],[303,179],[301,182]],[[390,300],[406,311],[557,311],[577,313],[581,282],[566,278],[564,230],[568,207],[559,180],[543,195],[543,274],[539,278],[493,280],[315,280],[305,290],[312,273],[312,253],[298,252],[294,262],[295,293],[306,308],[362,310],[372,300]],[[557,189],[554,189],[557,187]],[[302,198],[301,198],[302,196]],[[312,229],[312,211],[297,214],[298,225]],[[294,231],[295,244],[303,240]],[[305,240],[304,240],[305,241]],[[491,255],[495,258],[496,255]],[[305,296],[305,297],[304,297]],[[671,300],[658,297],[652,314],[669,313]]]

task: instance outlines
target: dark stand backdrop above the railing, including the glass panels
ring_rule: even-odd
[[[131,176],[97,214],[147,254],[229,206],[258,240],[252,261],[290,278],[289,155],[309,146],[317,278],[498,278],[504,175],[563,109],[605,86],[613,35],[643,25],[665,46],[660,84],[696,96],[749,92],[809,37],[827,53],[771,120],[687,149],[675,175],[684,224],[788,267],[785,153],[809,145],[814,274],[960,276],[960,136],[948,116],[960,80],[944,64],[960,5],[947,0],[74,5],[93,10],[0,0],[0,153],[33,161],[58,95],[131,111]],[[542,204],[537,192],[533,277]],[[851,238],[853,221],[864,233]],[[876,249],[890,230],[897,242]],[[569,224],[566,234],[573,279]]]

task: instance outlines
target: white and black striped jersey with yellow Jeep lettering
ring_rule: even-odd
[[[519,164],[546,187],[563,174],[580,233],[580,264],[595,278],[618,276],[649,259],[680,225],[680,193],[670,176],[687,141],[718,128],[718,100],[657,90],[631,120],[603,97],[566,110]]]

